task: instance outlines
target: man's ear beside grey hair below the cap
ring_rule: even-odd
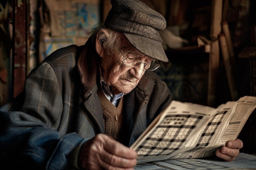
[[[99,36],[102,34],[105,34],[105,36]],[[106,41],[107,38],[108,38],[108,32],[106,30],[102,29],[97,33],[97,38],[95,41],[95,49],[100,57],[103,56],[104,42]]]

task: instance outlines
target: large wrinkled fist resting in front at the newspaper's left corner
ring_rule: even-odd
[[[98,134],[81,148],[79,161],[86,170],[133,170],[137,153],[115,139]]]

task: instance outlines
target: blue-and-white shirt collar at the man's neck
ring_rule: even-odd
[[[99,66],[99,72],[100,72],[100,79],[101,79],[101,90],[103,94],[107,97],[107,99],[114,105],[117,106],[119,99],[124,96],[124,93],[119,93],[117,95],[113,95],[110,91],[110,88],[108,84],[105,82],[105,79],[103,77],[103,73],[101,71],[101,66]]]

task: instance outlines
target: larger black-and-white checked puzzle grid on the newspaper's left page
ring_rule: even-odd
[[[177,150],[200,119],[198,115],[167,115],[137,148],[138,156],[166,155]]]

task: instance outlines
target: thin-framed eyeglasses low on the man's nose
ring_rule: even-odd
[[[119,47],[117,46],[118,50],[120,51],[121,55],[123,55],[123,53],[121,52],[121,50],[119,49]],[[141,60],[139,60],[138,58],[136,57],[125,57],[123,55],[123,64],[125,66],[128,66],[128,67],[136,67],[136,66],[139,66],[139,64],[144,64],[144,69],[146,71],[154,71],[156,70],[157,68],[160,68],[160,64],[158,63],[157,60],[153,60],[151,62],[147,62],[147,63],[144,63],[142,62]]]

